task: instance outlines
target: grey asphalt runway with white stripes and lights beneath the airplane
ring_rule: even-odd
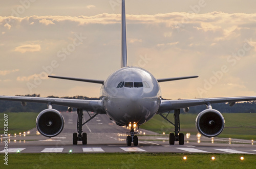
[[[232,153],[232,154],[256,154],[256,145],[251,140],[229,138],[207,138],[196,135],[185,137],[185,144],[180,146],[169,145],[168,134],[157,134],[151,131],[139,129],[139,145],[126,146],[126,132],[129,130],[114,124],[105,115],[98,115],[83,126],[83,132],[88,134],[88,144],[72,144],[72,134],[76,132],[76,112],[62,112],[65,119],[63,131],[56,137],[47,138],[36,134],[36,129],[30,130],[30,134],[11,135],[1,137],[0,153],[5,153],[5,140],[8,140],[8,153]],[[88,119],[85,112],[84,116]],[[186,135],[186,133],[184,133]]]

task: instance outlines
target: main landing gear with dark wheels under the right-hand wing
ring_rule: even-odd
[[[179,142],[179,145],[184,145],[184,134],[180,132],[180,109],[174,110],[174,123],[167,119],[167,116],[160,114],[165,120],[167,120],[170,124],[174,125],[175,133],[169,133],[169,144],[174,145],[175,142]]]

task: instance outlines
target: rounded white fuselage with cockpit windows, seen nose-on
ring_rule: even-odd
[[[117,125],[141,125],[156,115],[161,103],[157,79],[138,67],[124,67],[112,73],[101,88],[106,115]]]

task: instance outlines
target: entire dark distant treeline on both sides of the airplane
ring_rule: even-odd
[[[16,95],[16,96],[27,96],[27,97],[40,97],[39,94],[33,95]],[[99,100],[99,98],[89,98],[86,96],[73,96],[73,97],[57,97],[57,96],[48,96],[51,98],[66,98],[66,99],[83,99],[83,100]],[[165,100],[165,99],[163,99]],[[22,104],[18,101],[4,101],[0,100],[0,112],[40,112],[47,108],[47,104],[43,103],[31,103],[27,102],[26,106],[22,106]],[[58,106],[53,105],[54,109],[59,111],[67,111],[68,107],[66,106]],[[217,109],[221,113],[256,113],[256,101],[247,101],[243,103],[236,103],[232,107],[230,107],[226,103],[218,103],[212,104],[212,108]],[[205,105],[189,107],[189,113],[199,114],[199,112],[206,109]],[[75,108],[73,109],[76,110]],[[183,109],[181,109],[181,113],[183,113]]]

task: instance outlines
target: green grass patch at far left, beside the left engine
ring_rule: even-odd
[[[0,114],[0,133],[4,133],[4,114],[8,115],[8,133],[14,134],[28,131],[35,127],[38,113],[35,112],[7,112]]]

